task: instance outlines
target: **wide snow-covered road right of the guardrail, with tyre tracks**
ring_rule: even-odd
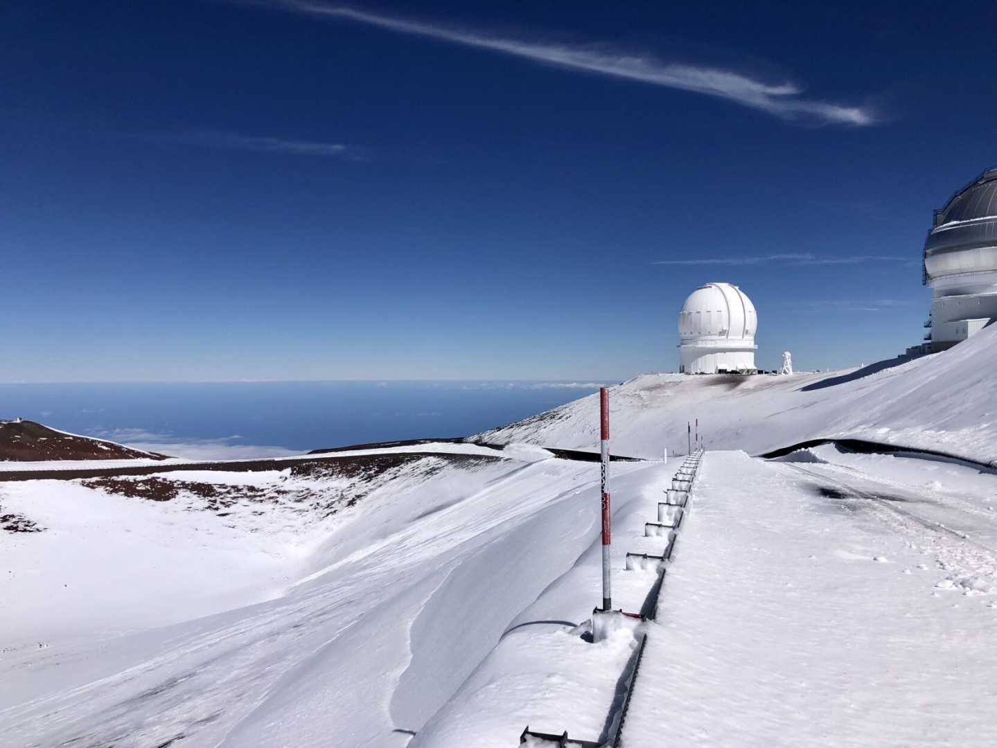
[[[993,596],[949,584],[969,575],[997,592],[997,566],[988,548],[938,526],[985,499],[915,498],[925,470],[961,473],[963,488],[991,495],[993,476],[844,456],[855,459],[883,475],[707,454],[649,627],[626,748],[997,745]],[[917,514],[898,514],[908,510]]]

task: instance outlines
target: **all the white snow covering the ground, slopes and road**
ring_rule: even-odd
[[[604,740],[646,636],[625,748],[995,745],[995,332],[878,372],[614,387],[614,454],[674,453],[695,417],[714,448],[678,481],[656,620],[597,641],[599,465],[544,448],[595,449],[592,397],[481,435],[503,450],[0,481],[0,517],[44,528],[0,528],[2,742],[489,748],[527,725]],[[953,458],[749,456],[831,436]],[[412,453],[428,456],[333,467]],[[317,459],[330,469],[302,469]],[[659,504],[680,497],[680,464],[611,465],[614,608],[653,607],[659,564],[636,559],[669,542],[653,523],[677,520]]]

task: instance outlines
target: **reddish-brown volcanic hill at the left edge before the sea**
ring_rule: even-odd
[[[113,441],[74,436],[33,420],[0,420],[0,460],[121,460],[166,455],[129,449]]]

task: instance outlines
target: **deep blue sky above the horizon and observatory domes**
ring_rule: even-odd
[[[622,378],[707,281],[894,356],[997,12],[811,5],[6,3],[0,380]]]

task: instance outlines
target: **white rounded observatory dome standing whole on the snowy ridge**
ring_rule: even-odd
[[[707,283],[679,312],[683,374],[754,374],[758,316],[751,299],[730,283]]]

